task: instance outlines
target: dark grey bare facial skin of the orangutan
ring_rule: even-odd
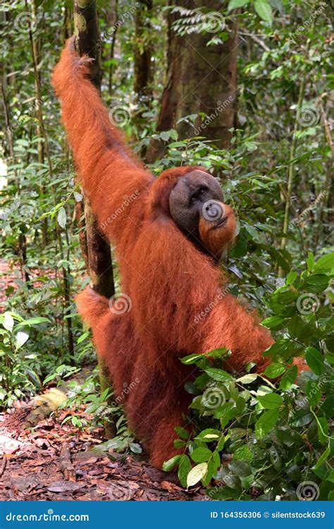
[[[204,204],[206,207],[203,209]],[[223,191],[218,181],[199,170],[179,178],[169,197],[173,220],[180,229],[194,236],[198,235],[199,217],[203,214],[214,223],[213,227],[221,224],[224,212],[220,204],[223,204]]]

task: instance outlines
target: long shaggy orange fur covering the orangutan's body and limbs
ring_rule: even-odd
[[[130,425],[151,462],[161,466],[177,452],[174,427],[183,423],[191,400],[183,385],[196,374],[179,358],[225,346],[232,350],[226,369],[242,370],[252,360],[261,371],[268,363],[262,353],[273,339],[223,291],[226,279],[214,260],[171,218],[169,193],[194,168],[165,171],[155,180],[110,123],[87,73],[87,59],[69,41],[53,84],[82,186],[101,231],[116,245],[122,290],[132,308],[114,314],[109,300],[89,289],[79,294],[78,308]]]

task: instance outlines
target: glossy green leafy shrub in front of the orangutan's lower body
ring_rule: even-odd
[[[225,349],[209,353],[210,360],[183,358],[201,370],[187,386],[195,394],[190,408],[197,434],[189,439],[177,428],[175,446],[185,451],[164,469],[177,465],[184,487],[202,482],[212,499],[334,499],[334,317],[324,292],[334,254],[316,263],[310,255],[306,264],[268,297],[272,315],[263,324],[279,332],[265,353],[272,363],[263,375],[249,372],[252,365],[242,377],[222,370]],[[298,382],[297,367],[289,367],[296,356],[310,369]]]

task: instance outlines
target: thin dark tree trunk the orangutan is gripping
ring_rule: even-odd
[[[90,68],[90,79],[100,90],[101,69],[99,66],[99,30],[97,26],[97,6],[94,0],[74,0],[74,25],[80,55],[87,54],[95,59]],[[97,220],[92,214],[87,197],[85,198],[86,231],[89,276],[94,291],[111,298],[115,293],[113,283],[113,263],[109,242],[101,235]],[[104,360],[98,356],[101,392],[110,387],[109,372]],[[113,437],[116,431],[111,422],[106,426],[106,437]]]

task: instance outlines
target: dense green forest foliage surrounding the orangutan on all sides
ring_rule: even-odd
[[[154,50],[150,105],[134,93],[135,11],[129,14],[120,1],[116,33],[105,3],[98,4],[104,101],[137,152],[144,153],[152,138],[165,143],[166,154],[152,166],[156,174],[187,161],[221,178],[240,224],[224,263],[228,291],[246,298],[277,340],[264,377],[235,378],[221,370],[219,360],[228,351],[213,353],[215,365],[197,355],[183,359],[202,370],[187,388],[194,394],[190,418],[197,437],[188,440],[187,431],[178,430],[177,445],[185,453],[166,469],[177,464],[183,486],[202,480],[213,499],[334,499],[330,3],[230,0],[219,13],[225,24],[211,32],[209,45],[224,42],[236,18],[240,33],[238,122],[230,150],[207,141],[205,126],[187,139],[176,130],[154,130],[166,66],[164,4],[154,3],[144,35]],[[70,30],[71,5],[15,0],[0,7],[6,117],[0,132],[6,177],[0,251],[5,270],[13,270],[0,317],[4,407],[95,361],[73,303],[74,293],[89,281],[75,219],[82,195],[50,85]],[[185,38],[206,30],[205,9],[178,13],[174,29]],[[194,118],[184,116],[190,123]],[[118,286],[117,267],[115,276]],[[295,368],[287,367],[294,356],[305,356],[310,367],[297,382]],[[107,449],[140,451],[119,406],[99,394],[96,376],[72,389],[69,406],[84,403],[97,422],[118,418],[118,438]],[[75,425],[80,427],[79,419]],[[304,490],[307,482],[311,492]]]

